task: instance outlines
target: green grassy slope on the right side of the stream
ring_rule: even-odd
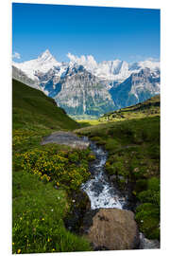
[[[135,210],[139,228],[160,239],[160,99],[144,101],[100,119],[100,124],[76,130],[109,152],[106,171],[125,191],[127,181],[140,203]],[[124,116],[122,118],[121,116]],[[86,123],[87,125],[87,123]]]

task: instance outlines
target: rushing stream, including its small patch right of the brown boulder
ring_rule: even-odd
[[[82,191],[86,192],[89,196],[91,210],[100,208],[131,210],[128,208],[128,195],[122,194],[122,192],[110,182],[105,172],[108,153],[102,147],[89,140],[88,137],[82,137],[82,139],[84,142],[89,142],[93,155],[95,155],[95,160],[90,166],[92,176],[81,186]],[[148,240],[144,237],[142,232],[140,232],[139,238],[140,249],[160,248],[158,240]]]

